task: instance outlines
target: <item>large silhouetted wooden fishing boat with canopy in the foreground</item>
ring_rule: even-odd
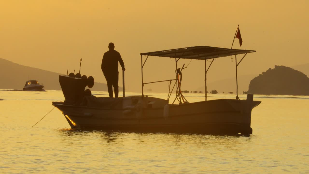
[[[253,94],[247,99],[240,100],[238,94],[235,99],[216,99],[189,102],[181,93],[182,70],[178,66],[179,59],[205,60],[205,91],[207,91],[207,71],[215,59],[231,55],[256,52],[254,50],[238,50],[211,46],[193,46],[171,50],[141,53],[141,96],[119,98],[95,97],[89,88],[93,86],[91,77],[79,74],[74,76],[59,76],[59,82],[65,97],[64,102],[53,102],[71,128],[90,128],[104,130],[142,131],[142,132],[176,132],[176,133],[226,133],[252,134],[251,111],[261,102],[253,100]],[[143,56],[144,59],[143,60]],[[167,57],[175,59],[175,79],[155,82],[144,82],[143,67],[148,57]],[[243,60],[239,61],[239,63]],[[211,61],[209,66],[206,62]],[[237,66],[236,84],[237,84]],[[90,78],[90,79],[89,79]],[[204,80],[204,79],[203,79]],[[151,83],[169,83],[167,99],[149,97],[144,94],[144,85]],[[123,83],[124,84],[124,83]],[[124,88],[124,86],[123,86]],[[171,94],[175,92],[175,99]],[[238,87],[237,87],[238,90]]]

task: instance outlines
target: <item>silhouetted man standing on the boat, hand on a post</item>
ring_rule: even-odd
[[[113,97],[113,88],[115,91],[115,98],[118,97],[118,62],[120,63],[122,70],[125,71],[125,64],[121,59],[121,55],[118,51],[114,50],[114,43],[108,44],[108,51],[104,53],[101,69],[107,81],[107,89],[109,97]]]

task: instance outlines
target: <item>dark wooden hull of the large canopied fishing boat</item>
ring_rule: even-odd
[[[53,102],[71,128],[142,132],[251,134],[251,110],[260,101],[219,99],[168,108],[102,109]]]

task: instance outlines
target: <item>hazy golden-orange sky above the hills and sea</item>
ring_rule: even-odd
[[[82,58],[81,74],[106,82],[100,64],[114,42],[125,63],[126,89],[140,91],[141,52],[230,48],[239,24],[243,45],[236,38],[233,48],[257,51],[240,63],[239,76],[258,75],[274,65],[309,63],[308,8],[309,1],[2,0],[0,58],[63,74],[67,68],[76,72]],[[234,61],[216,59],[207,80],[234,78]],[[190,63],[183,71],[183,89],[203,85],[204,66],[204,61]],[[175,77],[175,61],[169,58],[149,57],[144,68],[144,82]],[[119,85],[121,78],[120,73]]]

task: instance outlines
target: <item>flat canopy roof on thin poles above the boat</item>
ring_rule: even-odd
[[[170,57],[180,59],[213,59],[218,57],[226,57],[236,54],[245,54],[256,52],[254,50],[237,50],[229,48],[219,48],[212,46],[192,46],[186,48],[177,48],[171,50],[154,51],[148,53],[141,53],[141,55]]]

